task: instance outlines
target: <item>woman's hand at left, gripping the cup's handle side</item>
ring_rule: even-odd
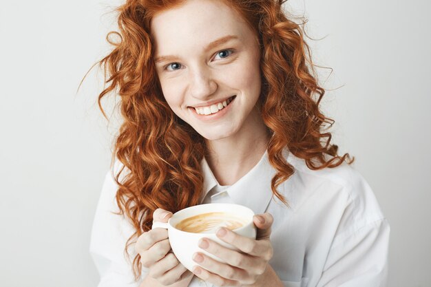
[[[167,222],[172,213],[163,209],[156,209],[153,221]],[[171,285],[191,275],[174,253],[164,228],[154,228],[143,233],[136,242],[135,250],[140,254],[140,262],[149,268],[148,275],[162,285]],[[187,272],[186,272],[187,271]]]

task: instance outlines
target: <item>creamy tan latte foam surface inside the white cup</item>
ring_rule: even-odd
[[[176,224],[175,227],[181,231],[191,233],[215,233],[219,227],[233,230],[244,226],[246,223],[246,220],[231,213],[211,212],[187,217]]]

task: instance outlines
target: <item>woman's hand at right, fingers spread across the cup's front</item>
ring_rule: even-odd
[[[227,264],[204,253],[195,253],[193,260],[200,266],[195,266],[193,273],[216,286],[263,286],[265,277],[275,275],[271,272],[272,268],[267,268],[271,267],[268,262],[273,257],[273,247],[269,240],[273,217],[269,213],[255,215],[253,222],[257,227],[256,240],[238,235],[227,228],[220,228],[216,233],[221,240],[242,252],[233,251],[207,238],[200,240],[200,248],[223,259]]]

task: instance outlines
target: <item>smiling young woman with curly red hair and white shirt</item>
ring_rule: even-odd
[[[127,0],[101,63],[124,122],[92,231],[99,286],[384,286],[389,226],[339,156],[324,89],[281,0]],[[250,240],[221,228],[193,273],[151,230],[187,206],[251,208]],[[198,267],[200,266],[200,267]]]

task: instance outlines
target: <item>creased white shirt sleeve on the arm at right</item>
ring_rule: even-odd
[[[368,183],[353,178],[344,211],[317,287],[384,287],[390,227]]]

